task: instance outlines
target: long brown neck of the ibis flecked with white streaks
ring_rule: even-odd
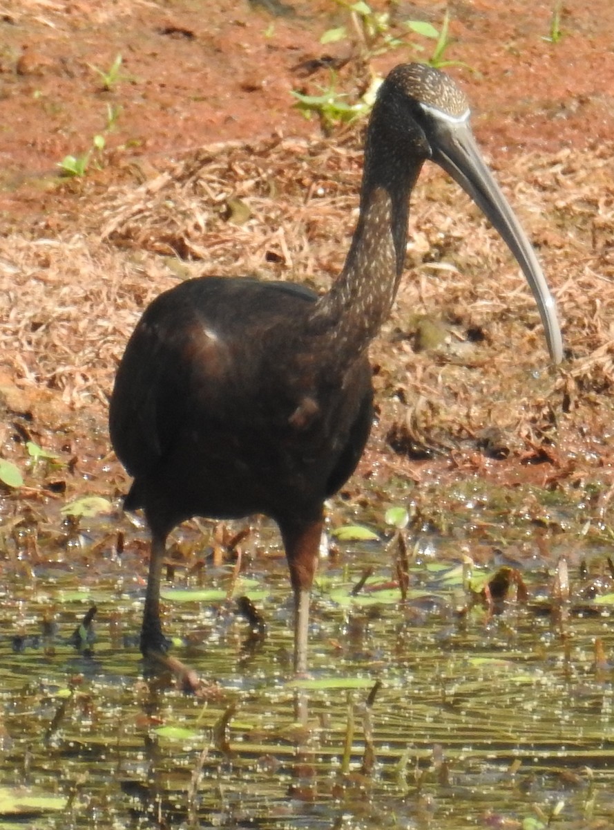
[[[367,145],[346,264],[312,313],[312,325],[341,364],[364,353],[389,317],[404,266],[409,196],[421,167],[398,148],[380,145],[375,154]]]

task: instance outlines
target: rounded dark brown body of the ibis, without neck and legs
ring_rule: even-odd
[[[346,481],[370,430],[370,369],[357,356],[340,371],[307,334],[313,300],[292,284],[204,277],[152,302],[109,414],[134,476],[128,507],[168,529],[191,515],[279,520]]]

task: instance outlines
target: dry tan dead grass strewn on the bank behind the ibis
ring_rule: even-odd
[[[578,452],[609,458],[614,383],[612,146],[576,157],[519,154],[498,178],[539,248],[570,359],[547,370],[534,302],[481,214],[433,166],[410,218],[408,273],[372,349],[380,423],[436,452],[493,425],[520,458],[547,453],[573,475]],[[254,274],[325,290],[357,216],[355,144],[218,144],[92,198],[53,236],[0,240],[0,374],[104,424],[114,369],[138,315],[188,276]],[[139,173],[140,174],[140,173]],[[229,221],[240,217],[239,224]],[[417,351],[420,320],[447,336]],[[52,425],[50,425],[52,426]],[[103,428],[103,427],[101,427]],[[558,441],[558,445],[557,445]],[[402,442],[401,442],[402,443]],[[545,450],[544,450],[545,447]],[[599,452],[595,454],[595,448]]]

